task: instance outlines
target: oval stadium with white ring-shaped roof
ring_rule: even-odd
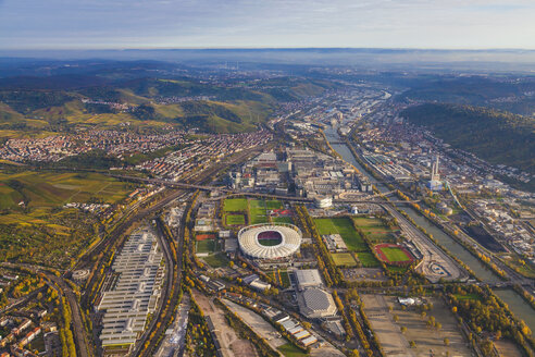
[[[291,256],[301,245],[301,231],[293,224],[254,224],[238,232],[239,248],[254,259]]]

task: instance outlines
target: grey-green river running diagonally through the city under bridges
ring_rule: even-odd
[[[362,168],[354,159],[351,150],[345,144],[335,144],[341,141],[336,128],[328,127],[324,131],[327,140],[333,149],[338,152],[344,160],[353,164],[362,174],[366,175],[370,181],[381,192],[389,192],[390,189],[385,185],[377,183],[376,180],[369,175],[369,173]],[[457,243],[449,235],[444,233],[436,225],[431,223],[427,219],[418,213],[414,209],[407,205],[398,206],[398,209],[407,212],[416,224],[423,226],[428,233],[433,234],[433,237],[446,247],[453,256],[470,267],[477,278],[486,282],[500,282],[500,279],[496,276],[485,264],[483,264],[477,258],[475,258],[470,251],[468,251],[462,245]],[[523,319],[532,331],[535,331],[535,313],[532,307],[513,290],[495,290],[498,295],[511,309],[511,311],[519,318]]]

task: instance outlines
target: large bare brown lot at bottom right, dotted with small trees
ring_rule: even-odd
[[[420,311],[408,308],[405,311],[394,296],[362,295],[364,310],[374,328],[387,356],[472,356],[468,342],[458,328],[451,311],[439,298],[430,298],[433,308],[422,319]],[[388,311],[388,306],[393,307]],[[395,321],[395,316],[398,321]],[[434,317],[440,329],[427,325],[427,319]],[[407,332],[401,333],[401,327]],[[446,346],[444,338],[448,338]],[[408,347],[414,341],[415,347]]]

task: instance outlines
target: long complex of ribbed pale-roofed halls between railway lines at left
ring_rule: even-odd
[[[148,230],[128,238],[115,258],[109,291],[102,294],[98,310],[104,311],[100,340],[102,347],[130,347],[141,335],[147,316],[160,298],[164,276],[163,254]]]

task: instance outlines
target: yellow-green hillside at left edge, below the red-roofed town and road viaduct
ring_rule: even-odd
[[[98,218],[67,202],[116,204],[134,185],[98,173],[0,173],[0,256],[65,267],[97,239]]]

